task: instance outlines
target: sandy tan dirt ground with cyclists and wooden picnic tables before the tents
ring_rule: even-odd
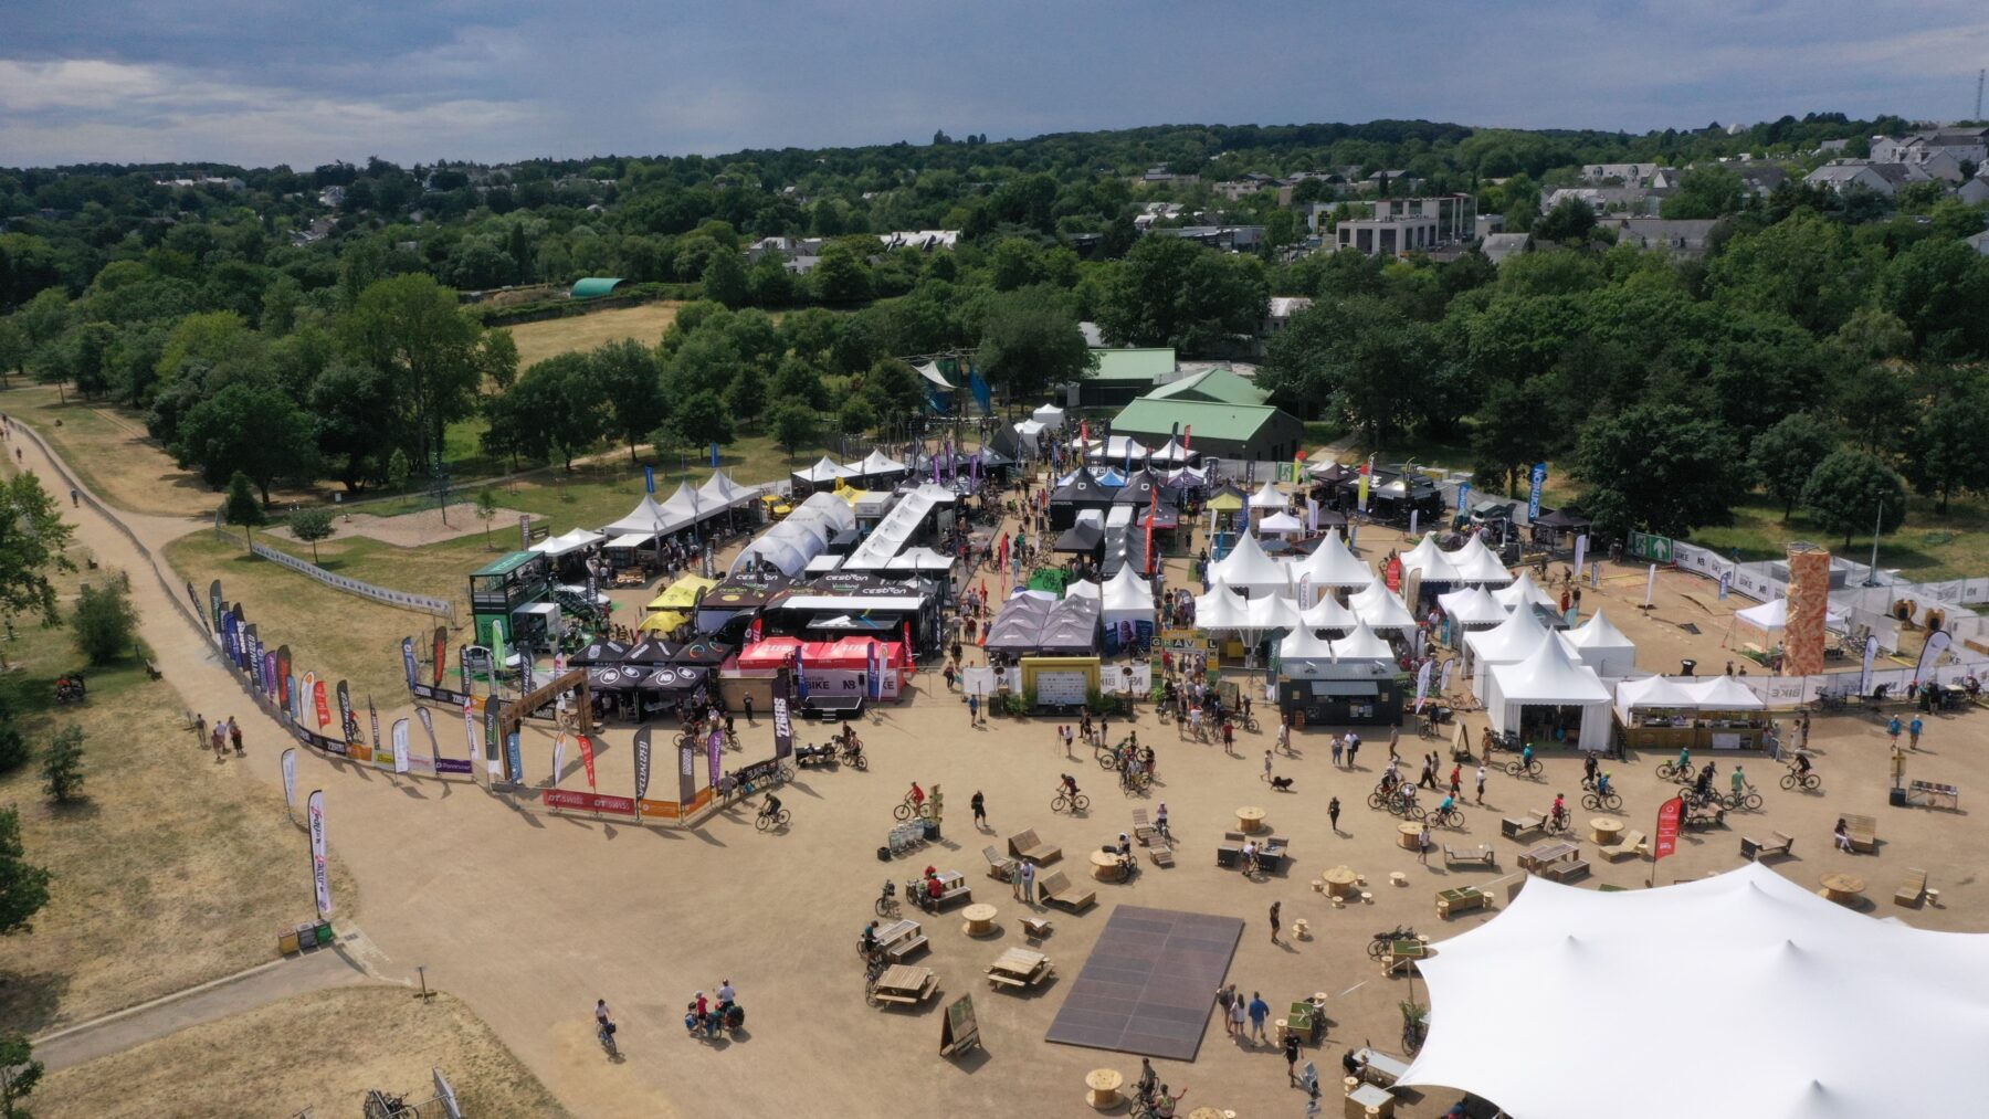
[[[80,535],[105,555],[123,547],[101,521],[82,517]],[[1378,533],[1362,537],[1364,559],[1386,549]],[[137,580],[145,634],[169,658],[169,680],[195,706],[215,708],[237,684],[215,664],[189,624],[149,580]],[[1683,616],[1687,602],[1671,578],[1661,578],[1659,610]],[[1693,586],[1681,584],[1691,590]],[[1699,584],[1699,590],[1711,590]],[[1641,568],[1611,570],[1601,604],[1639,642],[1649,640],[1641,662],[1673,668],[1679,650],[1703,666],[1724,660],[1717,636],[1691,638],[1677,626],[1643,620],[1635,602],[1643,594]],[[1597,594],[1583,606],[1593,610]],[[1738,604],[1738,602],[1734,602]],[[251,604],[253,608],[255,604]],[[1671,634],[1679,634],[1673,638]],[[298,638],[292,638],[298,640]],[[1673,644],[1683,642],[1683,644]],[[392,658],[394,650],[380,650]],[[931,668],[931,666],[927,666]],[[398,712],[384,712],[394,718]],[[461,755],[459,719],[438,712],[444,753]],[[1476,731],[1476,716],[1468,718]],[[1975,714],[1935,718],[1909,775],[1969,789],[1989,781],[1989,763],[1977,749],[1983,719]],[[1396,1002],[1410,998],[1410,982],[1382,978],[1364,956],[1368,934],[1394,924],[1430,932],[1442,950],[1452,932],[1434,914],[1438,888],[1482,882],[1512,871],[1522,851],[1498,837],[1498,815],[1537,809],[1555,791],[1579,793],[1579,761],[1549,757],[1545,781],[1490,781],[1486,807],[1468,807],[1450,843],[1492,843],[1500,871],[1444,871],[1422,867],[1394,845],[1394,821],[1368,811],[1362,801],[1386,761],[1382,735],[1368,737],[1360,767],[1335,769],[1325,749],[1331,727],[1307,727],[1293,757],[1275,759],[1275,771],[1295,779],[1293,791],[1273,793],[1263,783],[1269,733],[1243,735],[1237,753],[1217,745],[1187,743],[1150,712],[1134,727],[1160,751],[1160,785],[1146,797],[1128,797],[1090,757],[1066,759],[1050,719],[996,719],[969,725],[957,696],[947,696],[937,674],[919,674],[905,704],[875,712],[863,723],[871,753],[867,773],[851,769],[804,771],[782,799],[794,811],[786,833],[752,827],[754,805],[718,813],[696,829],[633,827],[587,815],[551,815],[527,807],[525,797],[497,797],[463,781],[410,779],[392,773],[308,757],[304,787],[324,787],[330,799],[332,845],[358,877],[368,898],[366,932],[386,956],[386,972],[428,966],[430,982],[459,996],[475,1010],[525,1065],[575,1113],[583,1115],[690,1115],[708,1111],[714,1091],[740,1113],[806,1109],[819,1115],[897,1113],[1078,1113],[1082,1077],[1094,1067],[1116,1067],[1128,1077],[1138,1057],[1050,1045],[1042,1036],[1064,1002],[1068,982],[1082,968],[1098,930],[1116,904],[1144,904],[1221,912],[1245,918],[1243,940],[1229,980],[1245,992],[1263,992],[1281,1006],[1311,992],[1329,992],[1329,1041],[1307,1051],[1331,1071],[1347,1043],[1374,1039],[1394,1047],[1400,1034]],[[1124,729],[1114,727],[1114,735]],[[744,751],[728,765],[772,753],[772,729],[740,723]],[[257,719],[253,739],[280,733]],[[802,741],[825,737],[804,723]],[[631,727],[599,737],[597,783],[607,793],[627,793],[633,783]],[[1796,837],[1794,857],[1776,869],[1806,886],[1832,871],[1860,873],[1880,898],[1878,916],[1899,916],[1929,928],[1979,930],[1989,898],[1975,880],[1975,853],[1983,825],[1971,813],[1901,811],[1886,807],[1884,733],[1862,716],[1816,721],[1812,739],[1824,775],[1822,795],[1788,795],[1774,789],[1774,769],[1760,767],[1756,785],[1766,807],[1730,817],[1726,829],[1691,833],[1679,855],[1657,873],[1659,882],[1699,877],[1738,865],[1742,835],[1782,829]],[[1402,751],[1422,747],[1410,735]],[[549,773],[551,743],[527,735],[527,773]],[[1631,827],[1649,831],[1663,787],[1653,775],[1659,757],[1619,763],[1617,781]],[[274,783],[274,751],[251,757]],[[1086,817],[1050,813],[1058,773],[1074,773],[1092,795]],[[668,765],[660,773],[668,795]],[[879,863],[877,847],[891,825],[891,807],[911,781],[939,785],[947,797],[945,839],[911,859]],[[587,777],[569,751],[567,789]],[[967,799],[983,791],[991,827],[977,831]],[[1329,827],[1329,797],[1345,805],[1341,829]],[[1086,914],[1050,912],[1054,932],[1044,950],[1060,978],[1030,994],[989,990],[985,966],[1020,942],[1016,918],[1042,914],[1012,898],[1008,886],[983,871],[983,847],[1002,847],[1002,837],[1038,829],[1064,849],[1062,869],[1078,880],[1090,849],[1130,825],[1134,807],[1166,801],[1179,837],[1179,865],[1146,865],[1130,884],[1098,884],[1098,906]],[[1269,813],[1269,827],[1291,841],[1297,867],[1285,877],[1251,882],[1219,871],[1213,849],[1235,823],[1237,807]],[[1850,857],[1830,849],[1836,815],[1870,813],[1880,819],[1880,853]],[[863,1002],[855,940],[885,879],[903,880],[927,863],[959,869],[975,884],[977,900],[998,906],[1000,936],[973,940],[961,932],[957,910],[921,918],[931,952],[919,960],[941,980],[941,1000],[915,1012],[875,1010]],[[1374,902],[1333,910],[1309,880],[1323,869],[1347,863],[1370,882],[1390,873],[1406,886],[1372,888]],[[1941,906],[1899,910],[1890,888],[1907,867],[1923,867],[1941,888]],[[1641,886],[1649,863],[1595,863],[1591,884]],[[1273,900],[1283,902],[1287,936],[1273,944],[1265,924]],[[1295,918],[1313,922],[1311,940],[1289,936]],[[1486,916],[1452,924],[1470,926]],[[684,1002],[732,980],[748,1008],[744,1036],[728,1041],[688,1039],[680,1026]],[[985,1047],[965,1059],[937,1053],[941,1004],[973,994]],[[1211,992],[1213,996],[1213,992]],[[1418,1000],[1426,998],[1420,982]],[[621,1063],[609,1063],[589,1022],[595,998],[607,998],[623,1020]],[[1516,1008],[1518,1010],[1518,1008]],[[1442,1008],[1434,1010],[1440,1020]],[[1185,1103],[1219,1105],[1239,1115],[1301,1111],[1301,1097],[1277,1079],[1281,1055],[1269,1041],[1237,1041],[1213,1018],[1193,1063],[1162,1061],[1162,1077],[1185,1085]],[[778,1071],[778,1075],[768,1075]],[[722,1087],[714,1087],[722,1085]],[[1432,1089],[1410,1097],[1400,1115],[1436,1115],[1456,1091]],[[1337,1107],[1335,1099],[1329,1099]]]

